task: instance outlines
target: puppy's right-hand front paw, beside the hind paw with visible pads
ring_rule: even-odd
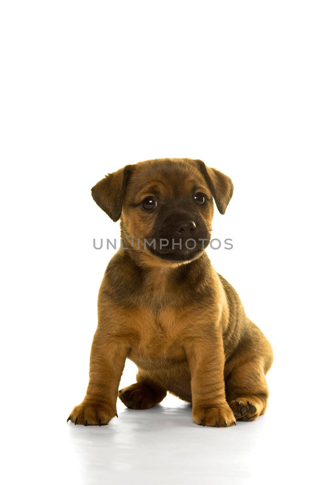
[[[201,426],[216,428],[226,428],[236,424],[233,411],[228,404],[221,404],[217,407],[195,407],[193,408],[193,420]]]

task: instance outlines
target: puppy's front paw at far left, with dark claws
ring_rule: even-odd
[[[84,426],[104,426],[115,416],[117,416],[116,409],[112,409],[109,404],[102,402],[93,404],[83,401],[73,408],[67,421],[71,420],[74,424],[83,424]]]

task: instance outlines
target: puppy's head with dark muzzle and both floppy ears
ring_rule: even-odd
[[[109,174],[92,189],[124,244],[153,264],[197,258],[210,242],[213,199],[221,214],[233,194],[231,179],[201,160],[139,162]]]

